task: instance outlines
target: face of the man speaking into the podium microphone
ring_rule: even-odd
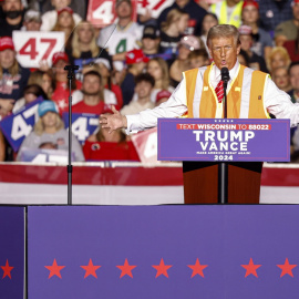
[[[231,70],[239,52],[240,45],[236,45],[234,37],[213,39],[209,42],[209,53],[218,69]]]

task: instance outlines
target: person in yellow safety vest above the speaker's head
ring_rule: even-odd
[[[210,12],[215,13],[219,24],[233,24],[238,28],[241,24],[241,0],[224,0],[210,6]]]

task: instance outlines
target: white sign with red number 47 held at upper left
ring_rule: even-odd
[[[13,31],[12,39],[24,68],[39,68],[41,61],[51,65],[53,54],[64,49],[64,32]]]

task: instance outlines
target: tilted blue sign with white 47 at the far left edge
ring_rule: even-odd
[[[42,97],[38,97],[0,122],[0,128],[14,152],[19,151],[23,140],[38,121],[38,107],[42,101]]]

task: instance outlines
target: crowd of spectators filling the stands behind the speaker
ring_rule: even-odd
[[[154,18],[134,18],[136,3],[115,0],[116,23],[99,28],[86,19],[89,1],[3,0],[0,10],[0,117],[18,113],[38,97],[39,121],[16,153],[0,131],[0,161],[22,161],[25,151],[66,150],[62,121],[69,111],[100,115],[135,114],[167,101],[182,72],[209,65],[206,39],[218,23],[238,28],[238,60],[270,73],[277,86],[299,102],[299,0],[175,0]],[[52,63],[23,68],[17,59],[13,31],[64,32],[64,49]],[[80,70],[69,86],[66,64]],[[299,130],[291,132],[293,161]],[[97,127],[83,143],[73,136],[74,161],[140,161],[122,131]]]

